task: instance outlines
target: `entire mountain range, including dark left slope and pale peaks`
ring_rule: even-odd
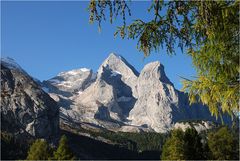
[[[165,133],[185,121],[201,120],[205,127],[221,123],[201,103],[190,105],[188,95],[174,88],[160,62],[145,65],[139,73],[114,53],[96,73],[80,68],[42,82],[13,59],[2,58],[1,116],[5,128],[11,124],[10,130],[36,137],[56,135],[59,124]],[[231,122],[226,115],[223,120]]]

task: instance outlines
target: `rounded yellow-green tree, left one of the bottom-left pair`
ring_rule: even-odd
[[[52,148],[45,140],[37,139],[28,151],[27,160],[48,160],[52,155]]]

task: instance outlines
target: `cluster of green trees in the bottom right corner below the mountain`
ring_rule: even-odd
[[[161,159],[239,160],[238,132],[221,127],[203,133],[201,137],[195,129],[189,128],[185,132],[175,129],[163,146]]]

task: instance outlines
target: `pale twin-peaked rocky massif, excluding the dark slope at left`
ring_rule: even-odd
[[[160,62],[140,74],[122,56],[111,53],[97,73],[90,69],[62,72],[43,82],[58,102],[61,122],[112,131],[167,132],[182,121],[220,123],[202,104],[174,88]],[[224,116],[229,123],[230,117]]]

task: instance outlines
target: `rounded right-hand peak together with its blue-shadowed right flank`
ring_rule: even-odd
[[[166,132],[183,120],[217,121],[207,107],[189,105],[187,95],[174,88],[160,62],[143,68],[137,81],[137,93],[136,104],[128,118],[133,125]]]

